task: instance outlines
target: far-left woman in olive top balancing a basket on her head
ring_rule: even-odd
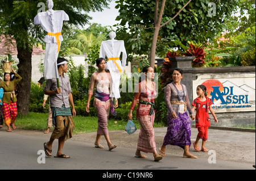
[[[21,81],[22,77],[19,76],[13,69],[12,72],[15,74],[16,79],[11,79],[10,73],[4,74],[4,82],[0,83],[0,87],[3,88],[3,119],[5,120],[5,125],[7,125],[7,132],[11,132],[11,128],[16,129],[14,122],[17,117],[17,105],[16,105],[16,95],[14,92],[14,87],[19,81]],[[11,127],[10,127],[11,126]]]

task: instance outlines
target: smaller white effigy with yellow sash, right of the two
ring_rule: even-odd
[[[123,70],[122,67],[126,65],[126,50],[125,43],[123,40],[115,40],[115,32],[110,32],[110,40],[102,41],[100,49],[100,57],[108,57],[108,62],[106,63],[106,69],[110,71],[110,98],[118,99],[120,98],[119,84],[120,75]],[[122,64],[120,61],[120,54],[122,52]]]

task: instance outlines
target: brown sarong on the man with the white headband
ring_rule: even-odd
[[[72,116],[56,116],[55,128],[52,132],[51,138],[59,139],[65,137],[65,140],[72,138],[72,132],[74,130],[74,121]]]

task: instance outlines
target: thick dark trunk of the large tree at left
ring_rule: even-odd
[[[22,80],[17,87],[17,110],[22,115],[28,114],[28,107],[30,104],[30,86],[31,86],[31,70],[32,70],[32,52],[27,48],[17,48],[19,58],[18,74]]]

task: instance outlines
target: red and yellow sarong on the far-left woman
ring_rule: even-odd
[[[10,102],[10,104],[7,104],[3,102],[3,119],[5,120],[5,125],[10,125],[11,123],[14,123],[17,117],[17,105],[16,102]]]

